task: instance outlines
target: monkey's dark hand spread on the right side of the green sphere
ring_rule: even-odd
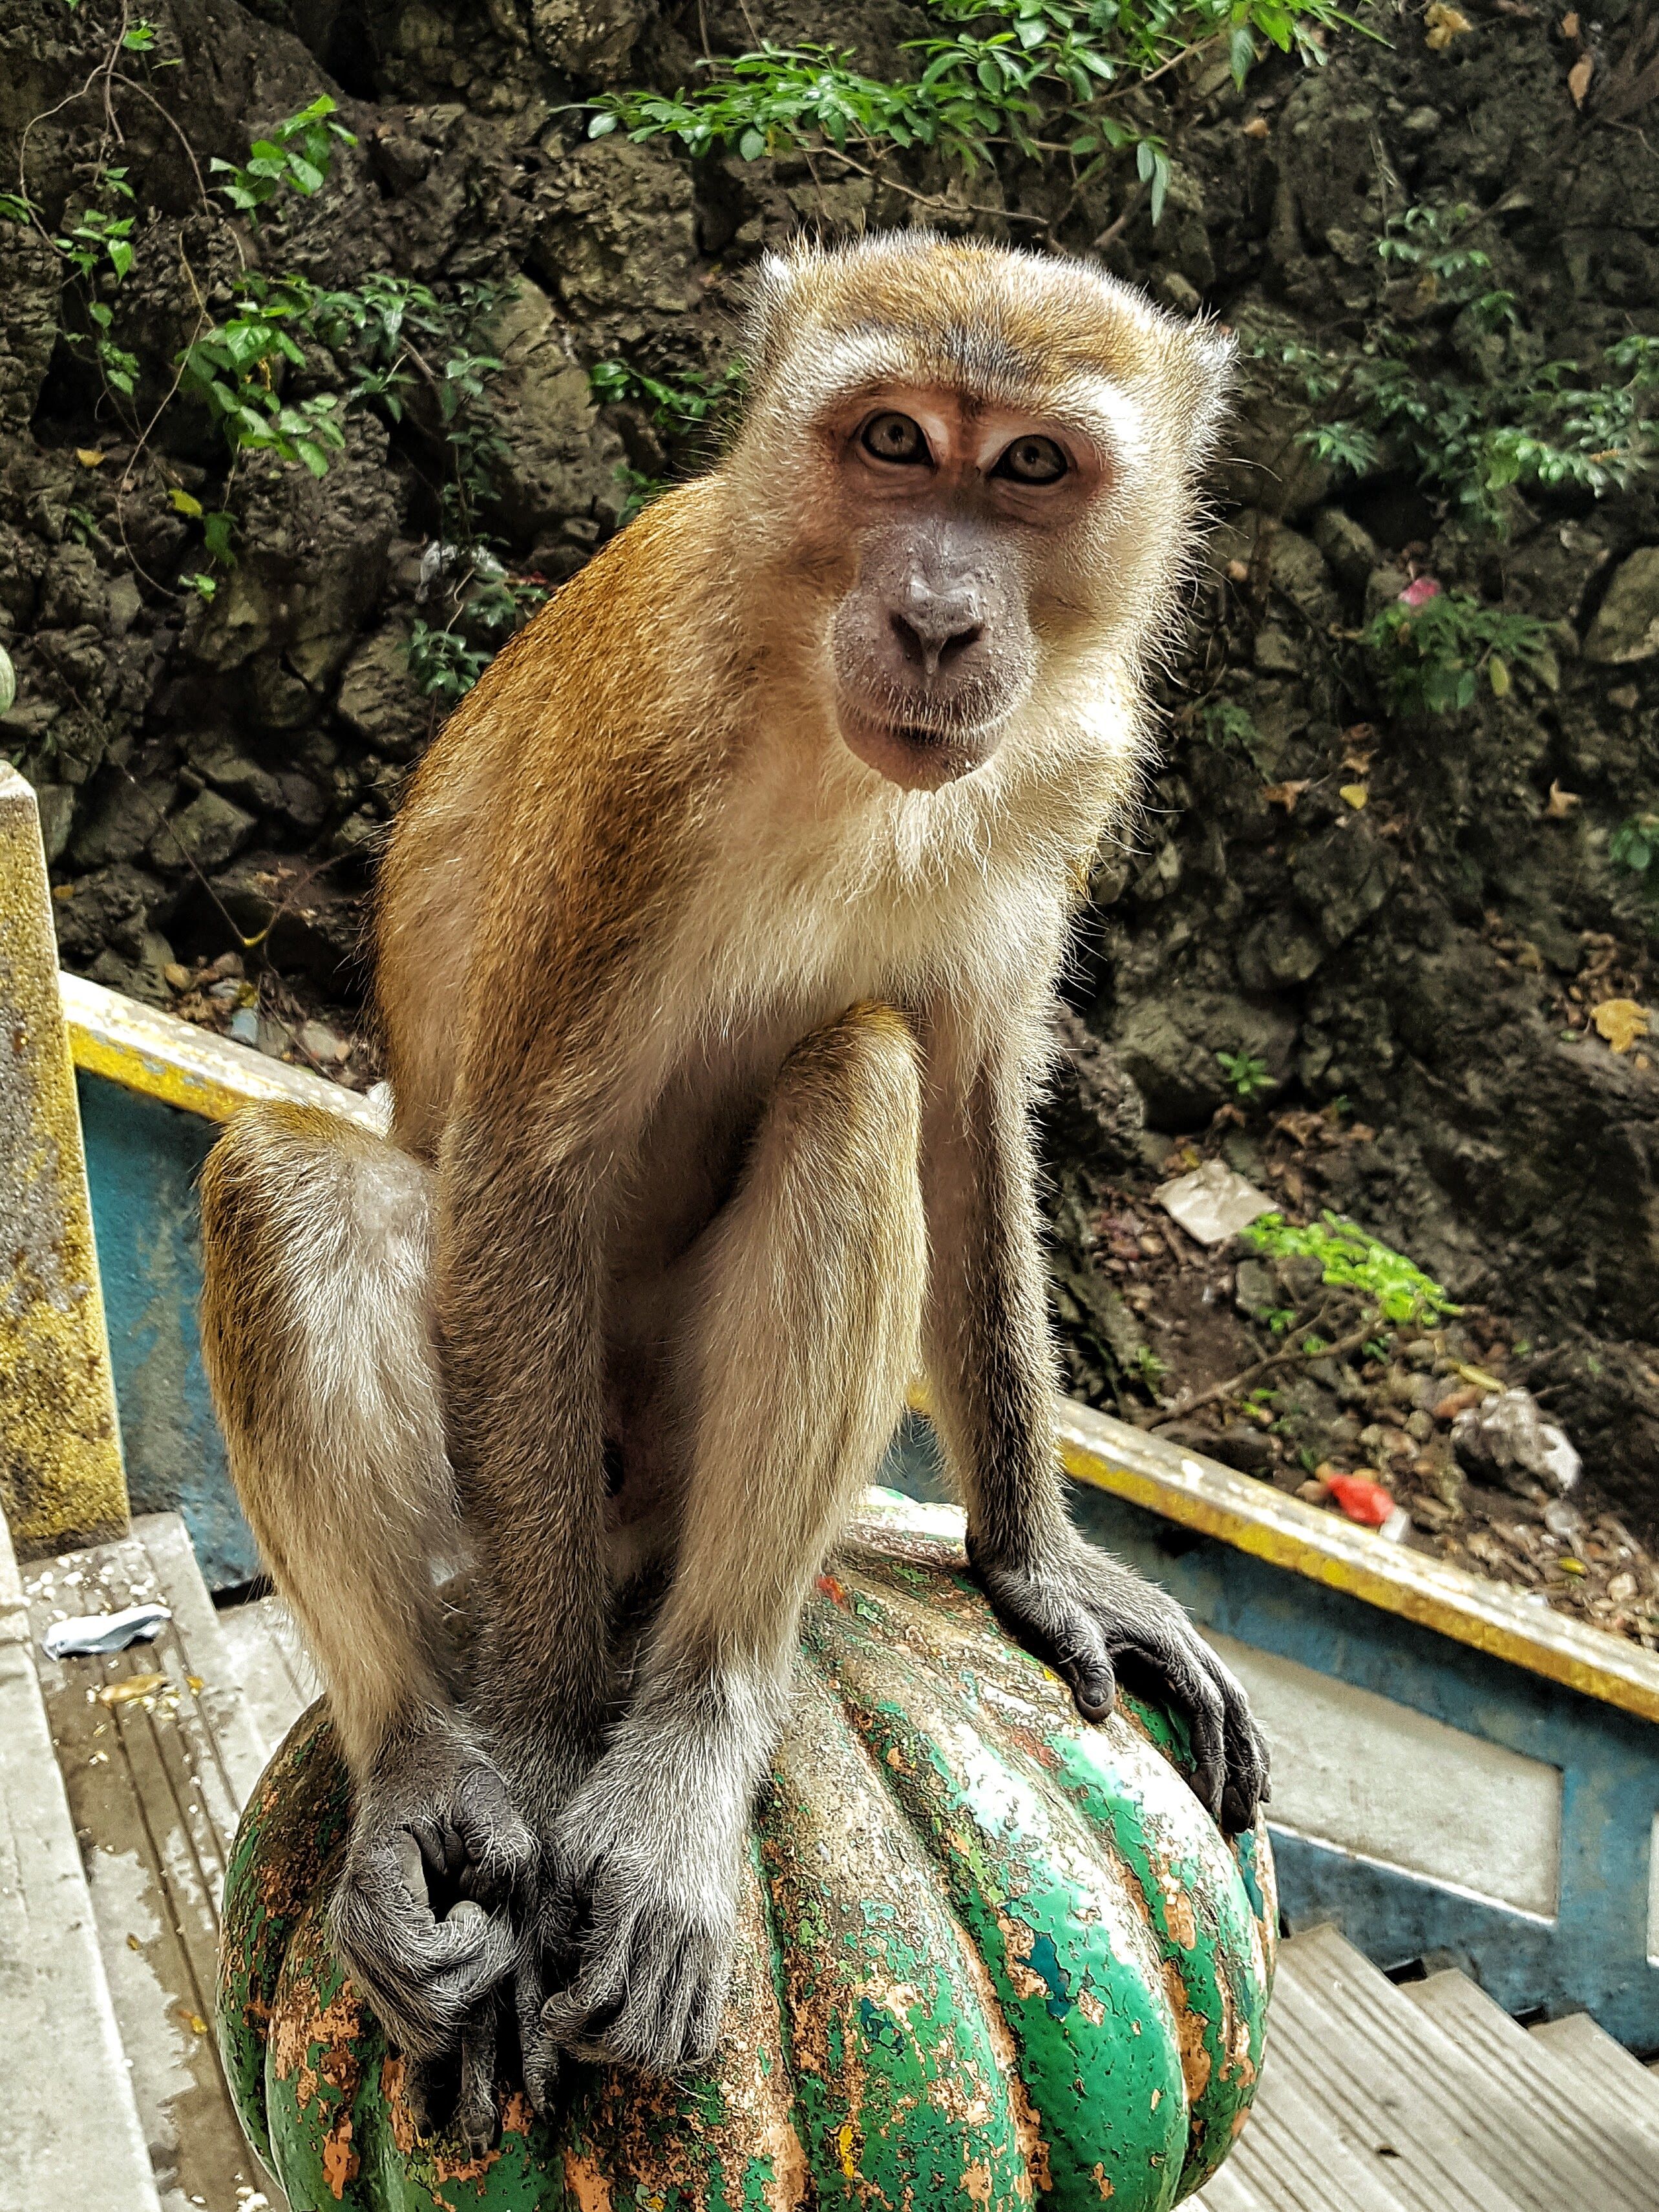
[[[1267,1745],[1243,1688],[1172,1597],[1082,1537],[1015,1566],[969,1535],[969,1562],[1002,1626],[1071,1683],[1086,1721],[1110,1714],[1119,1679],[1175,1705],[1192,1736],[1194,1794],[1225,1834],[1254,1825]]]

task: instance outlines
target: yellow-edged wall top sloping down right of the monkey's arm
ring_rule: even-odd
[[[918,1413],[927,1394],[911,1391]],[[1166,1444],[1073,1398],[1057,1400],[1060,1458],[1066,1473],[1164,1520],[1214,1535],[1237,1551],[1305,1575],[1325,1588],[1398,1613],[1455,1644],[1566,1683],[1659,1721],[1659,1655],[1624,1637],[1531,1604],[1506,1584],[1467,1575],[1444,1559],[1385,1544],[1336,1513],[1252,1482],[1194,1451]]]

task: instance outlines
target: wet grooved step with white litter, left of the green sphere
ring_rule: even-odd
[[[263,1745],[190,1540],[177,1515],[153,1515],[122,1542],[35,1564],[27,1593],[35,1650],[64,1615],[146,1599],[173,1610],[153,1644],[40,1655],[40,1688],[161,2212],[279,2205],[237,2126],[212,2035],[226,1860]]]

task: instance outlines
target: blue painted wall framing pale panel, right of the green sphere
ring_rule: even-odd
[[[925,1422],[907,1425],[883,1480],[914,1498],[949,1495]],[[1380,1966],[1460,1966],[1511,2013],[1590,2011],[1639,2055],[1659,2053],[1659,1969],[1648,1964],[1659,1728],[1106,1491],[1073,1486],[1073,1511],[1093,1542],[1161,1582],[1206,1628],[1562,1770],[1555,1920],[1274,1829],[1292,1931],[1336,1920]]]

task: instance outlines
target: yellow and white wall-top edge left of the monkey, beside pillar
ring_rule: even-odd
[[[239,1106],[285,1099],[321,1106],[356,1128],[378,1133],[385,1126],[378,1106],[358,1091],[330,1084],[307,1068],[268,1060],[248,1044],[215,1037],[208,1029],[157,1006],[142,1006],[84,975],[60,975],[58,984],[75,1066],[122,1084],[124,1091],[199,1113],[208,1121],[228,1121]]]

